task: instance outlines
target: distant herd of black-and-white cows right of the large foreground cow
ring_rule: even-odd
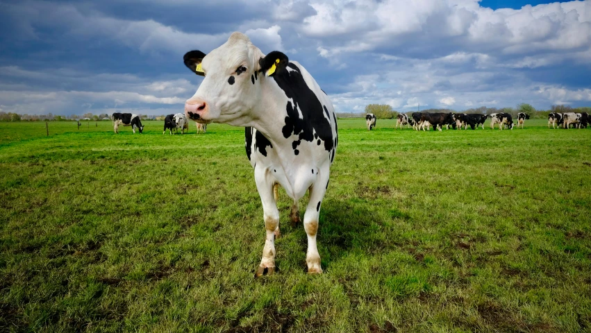
[[[484,129],[484,122],[486,119],[490,119],[490,128],[494,129],[494,125],[499,124],[499,129],[508,128],[513,130],[515,123],[513,122],[513,116],[506,112],[492,113],[492,114],[467,114],[467,113],[428,113],[428,112],[414,112],[408,117],[406,114],[398,114],[396,121],[396,128],[400,126],[403,128],[407,125],[408,128],[413,126],[415,130],[429,130],[433,126],[433,130],[442,130],[443,126],[449,129],[451,126],[453,129],[467,129],[468,126],[474,130],[482,126]],[[517,114],[517,128],[521,126],[524,128],[525,120],[529,119],[529,114],[519,112]],[[372,130],[376,127],[376,116],[375,114],[368,113],[365,116],[365,123],[367,130]],[[552,128],[587,128],[591,122],[589,114],[587,112],[567,112],[567,113],[556,113],[552,112],[548,115],[548,128],[552,125]]]

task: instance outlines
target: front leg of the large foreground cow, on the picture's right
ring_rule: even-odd
[[[324,194],[326,194],[326,184],[330,171],[326,168],[320,171],[314,185],[310,187],[310,200],[306,207],[306,213],[303,214],[303,228],[308,236],[308,252],[306,253],[306,265],[308,274],[322,273],[320,265],[320,255],[316,246],[316,234],[318,232],[318,217],[320,215],[320,205]]]

